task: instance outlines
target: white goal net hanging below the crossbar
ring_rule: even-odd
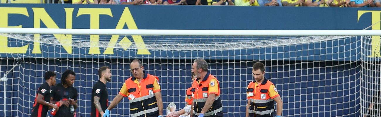
[[[88,117],[98,68],[110,66],[112,78],[106,86],[111,101],[132,75],[133,59],[142,60],[146,73],[159,77],[164,108],[170,102],[185,106],[195,58],[207,60],[209,72],[217,77],[226,117],[245,116],[245,91],[253,81],[252,65],[258,61],[266,65],[265,77],[282,97],[283,117],[359,117],[367,114],[372,102],[381,102],[379,36],[201,32],[209,35],[0,34],[0,77],[16,64],[14,58],[23,60],[0,84],[0,116],[29,117],[37,89],[45,82],[43,74],[55,71],[59,83],[61,73],[69,69],[77,74],[76,116]],[[373,111],[379,111],[373,105]],[[111,115],[129,117],[129,109],[128,98],[123,98]]]

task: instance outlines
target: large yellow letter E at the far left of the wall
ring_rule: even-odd
[[[23,14],[28,16],[28,11],[26,8],[21,7],[0,7],[0,27],[6,28],[21,28],[22,25],[18,26],[8,26],[8,14]],[[22,47],[8,47],[8,37],[0,36],[0,53],[22,53],[25,54],[28,49],[29,44]]]

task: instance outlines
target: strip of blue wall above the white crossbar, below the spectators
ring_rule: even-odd
[[[72,16],[72,28],[90,28],[90,15],[86,13],[94,14],[96,11],[85,11],[83,8],[95,8],[105,11],[104,14],[99,16],[99,28],[115,29],[124,9],[127,7],[138,29],[225,30],[360,30],[372,24],[372,12],[376,14],[376,12],[379,12],[378,10],[381,10],[380,8],[338,7],[110,6],[70,4],[2,4],[1,7],[26,8],[29,16],[11,14],[8,17],[9,26],[22,24],[24,28],[34,27],[33,21],[35,15],[32,8],[44,8],[59,28],[66,28],[66,11],[64,8],[73,8],[73,12],[70,13],[70,16]],[[82,15],[78,16],[80,9],[83,10],[83,14],[81,13]],[[360,15],[359,11],[368,11],[368,13]],[[36,13],[41,12],[36,10]],[[110,15],[106,15],[109,13]],[[359,20],[357,20],[358,17]],[[44,24],[40,27],[46,28]],[[127,29],[126,25],[124,28]]]

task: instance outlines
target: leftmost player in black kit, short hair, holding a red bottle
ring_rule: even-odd
[[[50,102],[50,86],[56,85],[56,73],[47,71],[44,75],[45,82],[38,87],[36,98],[32,108],[30,117],[46,117],[49,108],[58,109],[56,104]]]

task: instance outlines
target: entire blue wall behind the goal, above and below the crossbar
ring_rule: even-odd
[[[54,27],[53,23],[47,22],[50,17],[59,28],[67,28],[67,25],[71,24],[69,26],[71,28],[115,29],[120,19],[131,16],[133,21],[126,20],[126,24],[122,24],[123,29],[136,25],[138,29],[348,30],[368,27],[375,16],[381,13],[377,11],[381,10],[379,8],[335,7],[0,4],[0,8],[3,13],[0,13],[0,17],[8,17],[8,21],[0,18],[0,27],[22,25],[23,28]],[[70,9],[73,12],[70,12]],[[94,22],[90,15],[86,15],[86,13],[95,15],[100,12],[95,12],[96,10],[105,12],[99,16],[100,23]],[[19,13],[15,14],[14,11]],[[44,15],[45,11],[49,17]],[[362,14],[367,11],[369,13]],[[8,16],[4,15],[8,12],[10,13]],[[36,14],[43,20],[35,21]],[[66,15],[71,16],[72,21],[68,21]],[[144,41],[156,40],[145,36],[142,38]],[[256,40],[264,39],[259,37]],[[107,42],[109,39],[104,38],[100,41]],[[62,73],[66,69],[78,73],[74,84],[80,92],[78,96],[80,107],[77,111],[80,112],[79,116],[87,117],[91,110],[91,87],[98,80],[96,68],[103,65],[111,66],[113,83],[107,84],[107,87],[110,93],[109,99],[113,99],[119,91],[118,88],[122,87],[121,82],[131,76],[128,63],[134,58],[143,60],[148,73],[160,77],[164,106],[170,101],[181,102],[185,98],[183,91],[191,85],[189,76],[192,60],[199,57],[204,57],[211,63],[210,72],[220,81],[223,112],[226,117],[244,116],[247,103],[245,90],[248,82],[252,81],[250,68],[253,61],[258,60],[268,66],[265,76],[277,86],[282,96],[285,103],[284,116],[358,117],[360,116],[358,78],[361,70],[359,59],[370,55],[367,52],[365,55],[360,54],[363,49],[370,47],[361,48],[363,43],[359,36],[327,42],[254,49],[148,50],[149,55],[137,54],[136,49],[114,49],[114,54],[103,54],[106,48],[102,47],[99,48],[100,54],[89,54],[90,48],[74,46],[72,53],[68,54],[62,46],[50,44],[41,44],[42,53],[32,54],[34,49],[32,41],[7,39],[0,40],[0,43],[7,43],[8,47],[28,44],[26,52],[18,54],[7,52],[4,44],[0,45],[0,58],[22,57],[25,61],[16,68],[16,72],[7,76],[15,77],[7,82],[6,109],[0,106],[0,116],[7,117],[27,117],[30,114],[36,93],[34,90],[43,82],[41,77],[44,70]],[[1,74],[14,65],[10,59],[3,59],[0,63]],[[57,78],[61,77],[58,75]],[[0,94],[3,94],[3,91],[3,87],[0,87]],[[0,105],[4,104],[1,101],[3,99],[4,96],[0,95]],[[118,104],[118,109],[112,110],[112,114],[129,114],[129,106],[126,103],[128,100],[125,98],[122,102],[124,103]],[[180,108],[184,106],[184,103],[176,104]],[[7,111],[6,115],[3,113],[4,110]]]

